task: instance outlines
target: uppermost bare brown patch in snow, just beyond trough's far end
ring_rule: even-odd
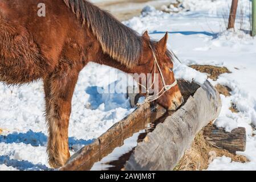
[[[208,78],[211,78],[214,81],[216,81],[218,76],[223,73],[231,73],[226,67],[215,67],[212,65],[190,65],[189,67],[196,69],[201,73],[208,73]]]

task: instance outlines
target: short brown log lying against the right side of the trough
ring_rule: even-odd
[[[204,137],[210,144],[224,148],[231,153],[245,151],[246,131],[244,127],[238,127],[229,133],[222,127],[208,125],[204,129]]]

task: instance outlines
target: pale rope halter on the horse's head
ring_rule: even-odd
[[[153,48],[151,47],[151,45],[149,45],[149,47],[151,48],[152,52],[153,52],[153,56],[154,56],[154,80],[153,80],[153,83],[152,85],[147,89],[146,86],[140,84],[138,82],[138,84],[143,87],[147,94],[146,94],[146,98],[144,100],[144,102],[153,102],[157,99],[159,99],[165,92],[167,92],[168,90],[170,90],[171,88],[173,88],[174,86],[177,85],[177,80],[175,79],[175,81],[173,82],[173,84],[171,85],[166,85],[166,82],[164,80],[164,75],[162,75],[162,71],[160,69],[160,65],[157,61],[157,58],[156,58],[156,54],[155,54],[155,51],[153,50]],[[161,76],[161,79],[162,79],[162,83],[164,84],[164,87],[160,90],[159,93],[157,93],[157,95],[153,95],[153,96],[149,96],[149,89],[152,89],[153,85],[155,84],[155,81],[156,81],[156,67],[159,69],[159,73],[160,73],[160,76]]]

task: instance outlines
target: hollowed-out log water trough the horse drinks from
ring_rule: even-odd
[[[185,100],[178,110],[166,112],[159,105],[139,106],[94,143],[71,156],[60,170],[173,170],[197,133],[214,121],[221,110],[220,95],[209,81],[198,85],[179,80],[178,85]],[[216,138],[210,137],[210,130],[209,127],[208,139],[214,142]],[[128,140],[135,143],[131,145]],[[220,138],[217,140],[216,145],[221,143]],[[245,133],[236,142],[240,140],[245,142]],[[244,148],[245,143],[231,147]]]

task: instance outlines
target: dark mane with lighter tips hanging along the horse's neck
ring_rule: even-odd
[[[107,11],[101,10],[86,0],[63,0],[64,3],[87,24],[101,44],[104,53],[131,68],[141,55],[141,36],[119,22]]]

